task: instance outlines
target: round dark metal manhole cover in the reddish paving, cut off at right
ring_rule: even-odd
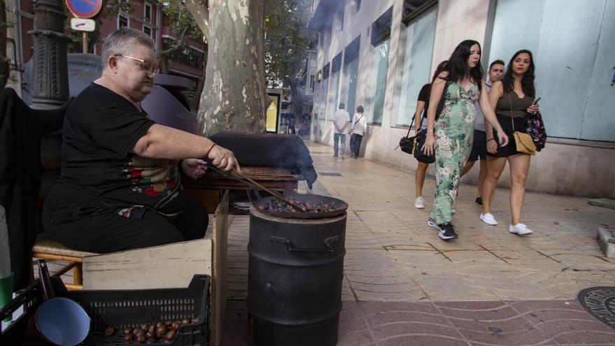
[[[579,302],[593,317],[615,329],[615,287],[592,287],[579,292]]]

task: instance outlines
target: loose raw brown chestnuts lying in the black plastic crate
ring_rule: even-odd
[[[126,326],[123,331],[124,344],[173,343],[182,324],[198,323],[198,319],[183,319],[175,322],[158,322],[156,324],[140,324]],[[105,336],[113,336],[115,327],[105,329]]]

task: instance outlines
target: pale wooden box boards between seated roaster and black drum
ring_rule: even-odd
[[[194,274],[211,275],[211,341],[219,345],[226,309],[228,215],[226,192],[204,239],[84,257],[83,289],[188,287]]]

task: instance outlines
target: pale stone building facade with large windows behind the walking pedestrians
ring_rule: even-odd
[[[532,158],[527,188],[615,198],[615,0],[314,0],[311,10],[308,28],[319,32],[312,140],[332,145],[337,105],[362,105],[361,152],[414,171],[417,161],[394,149],[435,66],[465,39],[481,43],[485,71],[528,49],[549,140]],[[477,171],[463,181],[475,183]],[[509,187],[506,170],[500,186]]]

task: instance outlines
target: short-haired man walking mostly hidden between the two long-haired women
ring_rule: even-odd
[[[504,62],[502,62],[502,60],[495,60],[492,62],[491,65],[489,65],[487,75],[489,75],[489,80],[485,82],[485,85],[487,87],[486,91],[489,92],[491,83],[502,79],[502,75],[504,75]],[[470,169],[472,169],[472,166],[474,166],[474,163],[480,159],[475,202],[479,206],[482,206],[482,187],[485,182],[485,177],[487,176],[487,138],[485,133],[485,116],[480,110],[478,101],[475,103],[475,108],[476,122],[474,124],[474,143],[472,143],[472,151],[470,152],[470,157],[468,157],[468,162],[461,171],[461,176],[463,177],[465,173],[468,173]]]

